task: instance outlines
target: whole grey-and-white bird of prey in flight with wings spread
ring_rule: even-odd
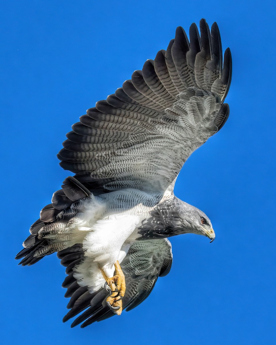
[[[31,226],[20,264],[57,252],[68,276],[71,309],[85,327],[148,297],[168,274],[168,237],[215,233],[210,219],[174,195],[177,175],[191,155],[223,127],[231,54],[222,53],[218,26],[200,20],[176,29],[167,50],[106,100],[80,117],[58,154],[63,181]],[[223,61],[224,60],[224,61]]]

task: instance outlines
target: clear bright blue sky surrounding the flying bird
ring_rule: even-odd
[[[1,8],[3,344],[117,336],[124,344],[275,344],[275,3],[4,0]],[[216,240],[172,238],[171,272],[144,303],[70,329],[57,257],[31,267],[13,259],[70,175],[56,154],[87,108],[166,49],[177,26],[188,32],[203,17],[217,21],[232,52],[230,117],[186,162],[175,194],[209,216]]]

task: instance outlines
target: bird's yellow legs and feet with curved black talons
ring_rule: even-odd
[[[122,313],[121,299],[125,296],[126,280],[125,280],[125,275],[121,269],[121,266],[118,260],[116,261],[114,266],[115,266],[114,277],[111,277],[111,278],[107,277],[105,272],[103,272],[102,269],[101,269],[101,272],[108,286],[110,287],[110,290],[112,291],[111,295],[107,297],[106,302],[115,314],[121,315]]]

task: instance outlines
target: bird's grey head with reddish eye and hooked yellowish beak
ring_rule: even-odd
[[[195,206],[184,203],[180,199],[178,199],[178,202],[180,221],[183,225],[183,231],[181,233],[204,235],[210,238],[210,242],[213,242],[216,235],[211,221],[206,214]]]

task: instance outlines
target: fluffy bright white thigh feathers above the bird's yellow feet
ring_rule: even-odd
[[[114,263],[122,262],[135,241],[139,217],[112,215],[96,222],[82,243],[85,254],[83,262],[75,268],[75,278],[81,286],[95,292],[105,284],[102,272],[114,275]]]

